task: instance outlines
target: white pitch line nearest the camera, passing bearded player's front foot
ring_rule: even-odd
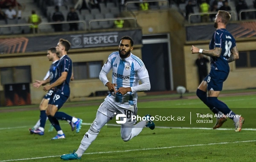
[[[207,146],[207,145],[223,145],[223,144],[233,144],[233,143],[242,143],[242,142],[256,142],[256,140],[250,140],[250,141],[236,141],[236,142],[219,142],[219,143],[198,144],[198,145],[170,146],[170,147],[163,147],[163,148],[143,148],[143,149],[134,149],[134,150],[120,150],[120,151],[95,152],[95,153],[84,153],[84,155],[102,154],[102,153],[123,153],[123,152],[131,152],[131,151],[157,150],[157,149],[168,149],[168,148],[185,148],[185,147]],[[50,158],[50,157],[60,157],[60,155],[58,155],[58,156],[34,157],[34,158],[26,158],[26,159],[2,160],[2,161],[0,161],[0,162],[23,161],[23,160],[32,160],[32,159],[45,159],[45,158]]]

